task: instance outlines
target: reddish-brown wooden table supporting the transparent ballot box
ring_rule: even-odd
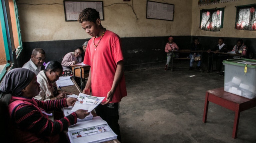
[[[240,112],[256,106],[256,98],[248,99],[224,91],[224,87],[206,91],[203,122],[206,123],[209,101],[235,112],[232,138],[236,138]]]

